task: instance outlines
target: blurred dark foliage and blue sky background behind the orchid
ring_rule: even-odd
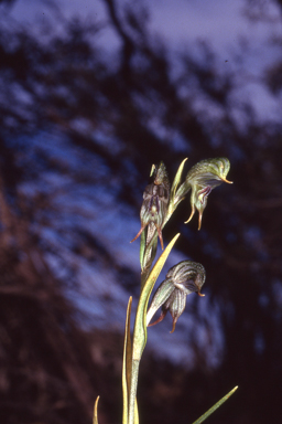
[[[282,416],[281,0],[0,1],[0,415],[121,422],[152,163],[227,157],[204,213],[181,203],[165,265],[202,263],[176,330],[149,329],[141,423]],[[160,279],[161,282],[161,279]],[[160,283],[159,282],[159,283]]]

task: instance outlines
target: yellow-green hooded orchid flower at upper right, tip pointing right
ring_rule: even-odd
[[[226,179],[229,169],[230,162],[227,158],[205,159],[191,168],[186,177],[186,184],[192,189],[192,212],[185,224],[192,220],[195,210],[197,210],[198,230],[200,230],[203,212],[207,205],[207,197],[210,191],[223,182],[232,183],[232,181]]]

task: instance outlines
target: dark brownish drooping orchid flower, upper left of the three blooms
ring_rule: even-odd
[[[140,211],[141,229],[130,243],[134,242],[148,224],[153,223],[163,248],[162,225],[170,200],[170,182],[165,166],[161,162],[154,171],[154,182],[147,186]]]

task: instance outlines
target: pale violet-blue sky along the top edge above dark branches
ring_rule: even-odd
[[[118,4],[126,2],[117,1]],[[29,22],[33,30],[50,17],[54,19],[50,3],[18,0],[10,14],[20,23]],[[54,3],[67,19],[79,17],[85,22],[94,19],[106,23],[98,43],[110,56],[119,47],[119,38],[107,24],[102,0],[57,0]],[[247,0],[135,0],[129,3],[148,9],[151,34],[165,42],[172,57],[187,49],[197,54],[197,42],[207,42],[217,55],[217,68],[228,67],[234,72],[241,87],[236,95],[254,106],[259,119],[280,119],[280,102],[261,84],[265,68],[281,59],[280,45],[270,43],[282,36],[280,11],[274,2],[264,2],[268,13],[264,21],[247,19]],[[59,20],[55,22],[59,31]]]

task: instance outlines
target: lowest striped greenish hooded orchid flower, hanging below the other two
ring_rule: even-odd
[[[205,296],[200,293],[200,288],[203,287],[205,279],[205,268],[196,262],[183,261],[177,265],[174,265],[169,271],[164,282],[162,282],[153,296],[151,306],[147,314],[147,325],[151,327],[161,322],[170,310],[173,318],[173,328],[171,332],[173,332],[175,330],[177,319],[185,309],[187,295],[195,292],[199,296]],[[160,307],[162,307],[160,318],[150,324],[152,317]]]

